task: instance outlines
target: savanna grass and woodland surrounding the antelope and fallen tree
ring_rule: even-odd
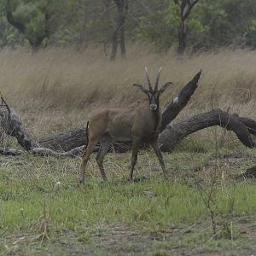
[[[195,4],[183,20],[181,49],[185,2]],[[0,9],[0,90],[35,140],[84,127],[95,108],[142,101],[132,84],[145,82],[144,66],[152,77],[163,67],[161,82],[174,84],[163,109],[203,70],[174,122],[213,108],[256,119],[253,0],[4,0]],[[20,147],[2,133],[0,142]],[[1,155],[0,253],[255,253],[256,185],[241,176],[255,166],[255,148],[215,126],[186,137],[164,158],[167,181],[147,149],[129,183],[130,152],[106,156],[108,182],[92,156],[83,186],[79,157]]]

